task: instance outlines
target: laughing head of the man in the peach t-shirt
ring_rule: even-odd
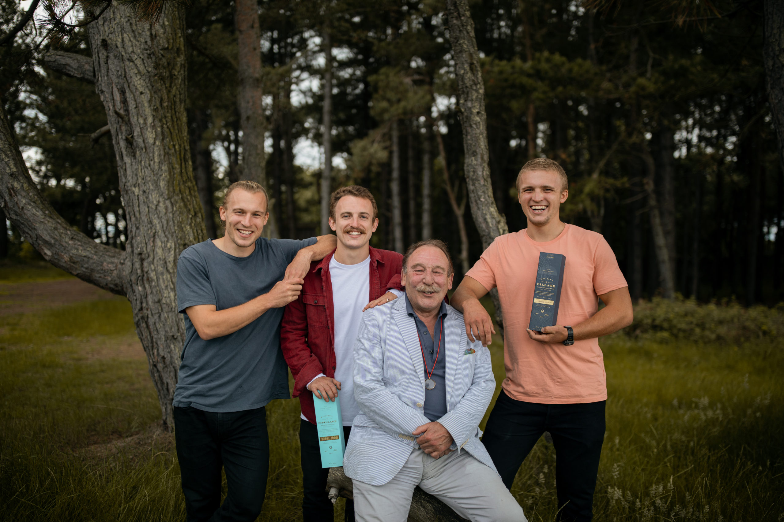
[[[544,226],[553,218],[560,221],[558,212],[568,195],[555,171],[524,171],[520,176],[517,200],[528,218],[528,226]]]

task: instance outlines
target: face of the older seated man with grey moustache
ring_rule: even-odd
[[[403,268],[402,283],[408,301],[417,312],[433,312],[441,307],[454,274],[448,274],[449,260],[438,247],[425,245],[414,250]]]

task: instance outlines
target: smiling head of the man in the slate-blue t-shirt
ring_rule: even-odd
[[[220,219],[226,222],[226,237],[241,249],[253,247],[269,217],[267,198],[262,192],[234,189],[220,207]]]

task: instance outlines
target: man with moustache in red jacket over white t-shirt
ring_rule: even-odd
[[[302,407],[299,445],[304,522],[334,517],[325,491],[328,469],[321,467],[313,394],[330,401],[340,391],[343,433],[348,440],[359,412],[351,362],[362,312],[402,295],[403,256],[369,245],[379,225],[378,212],[368,189],[354,185],[332,193],[329,226],[336,232],[337,248],[310,264],[302,293],[283,314],[281,349],[294,376],[293,395]],[[394,290],[385,293],[387,289]],[[354,520],[352,501],[346,502],[346,520]]]

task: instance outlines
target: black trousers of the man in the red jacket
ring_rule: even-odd
[[[350,426],[343,427],[348,442]],[[318,447],[318,429],[305,419],[299,419],[299,451],[302,458],[302,519],[303,522],[335,520],[332,501],[327,496],[329,468],[321,467],[321,449]],[[346,500],[346,522],[354,522],[354,501]]]

